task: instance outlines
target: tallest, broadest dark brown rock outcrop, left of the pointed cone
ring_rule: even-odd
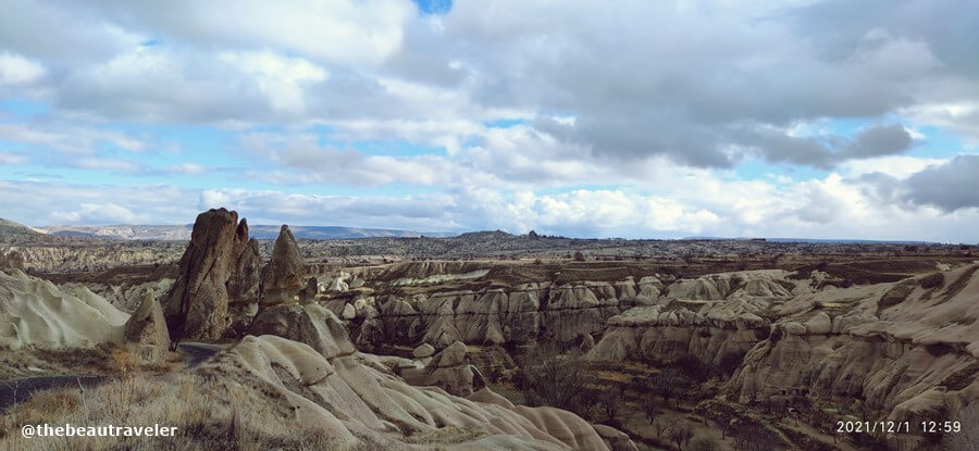
[[[190,243],[181,258],[179,275],[163,312],[174,338],[216,339],[232,321],[256,301],[255,276],[260,262],[258,245],[248,239],[248,224],[225,209],[197,216]],[[238,308],[238,305],[244,305]]]

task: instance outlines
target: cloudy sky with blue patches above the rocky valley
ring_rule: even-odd
[[[974,0],[15,1],[0,217],[979,242]]]

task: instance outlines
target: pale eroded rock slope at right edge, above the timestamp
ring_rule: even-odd
[[[802,392],[860,400],[881,417],[913,424],[955,417],[979,403],[977,268],[793,299],[730,385],[742,401]],[[892,440],[915,449],[922,438]]]

